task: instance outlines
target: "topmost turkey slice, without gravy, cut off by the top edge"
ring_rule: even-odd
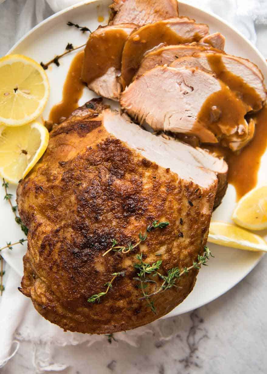
[[[162,19],[178,17],[177,0],[114,0],[110,24],[145,25]]]

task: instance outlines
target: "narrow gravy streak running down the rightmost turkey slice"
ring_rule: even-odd
[[[233,92],[236,93],[237,97],[242,99],[248,105],[248,110],[259,110],[261,108],[260,95],[255,89],[249,86],[241,77],[233,74],[231,71],[226,69],[223,63],[223,55],[219,53],[211,53],[207,55],[209,66],[211,70],[216,74],[217,78],[225,83]]]

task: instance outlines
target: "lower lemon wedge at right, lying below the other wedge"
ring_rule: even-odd
[[[267,252],[267,243],[262,237],[230,223],[211,222],[208,242],[247,251]]]

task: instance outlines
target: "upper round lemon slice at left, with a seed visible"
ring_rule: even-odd
[[[22,55],[0,59],[0,123],[21,126],[42,113],[49,96],[44,69]]]

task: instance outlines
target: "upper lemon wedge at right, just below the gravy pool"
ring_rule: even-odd
[[[239,200],[232,220],[249,230],[267,229],[267,185],[253,188]]]

